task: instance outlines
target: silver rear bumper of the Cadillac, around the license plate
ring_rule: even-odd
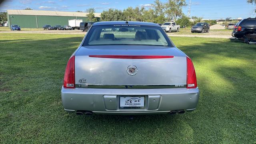
[[[145,95],[144,109],[120,109],[119,96]],[[62,104],[67,112],[91,111],[95,114],[168,114],[172,110],[196,109],[199,90],[163,89],[100,89],[75,88],[61,90]]]

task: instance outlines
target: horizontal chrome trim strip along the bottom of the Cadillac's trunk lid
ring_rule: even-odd
[[[186,84],[174,85],[96,85],[96,84],[76,84],[76,88],[108,88],[108,89],[156,89],[156,88],[186,88]]]

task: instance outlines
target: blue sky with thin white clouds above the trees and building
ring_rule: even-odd
[[[160,0],[166,2],[167,0]],[[102,12],[109,8],[124,10],[128,6],[145,6],[150,8],[154,0],[5,0],[0,5],[0,11],[6,9],[24,9],[30,7],[34,10],[58,10],[75,12],[94,8],[96,12]],[[189,0],[186,0],[189,4]],[[205,19],[225,19],[255,17],[255,5],[247,4],[246,0],[191,0],[190,16],[200,16]],[[184,14],[188,14],[188,6],[183,8]]]

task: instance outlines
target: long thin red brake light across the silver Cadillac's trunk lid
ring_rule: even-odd
[[[120,58],[120,59],[153,59],[153,58],[174,58],[174,56],[130,56],[130,55],[89,55],[93,58]]]

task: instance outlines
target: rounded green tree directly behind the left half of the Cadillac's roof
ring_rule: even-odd
[[[108,9],[104,10],[101,14],[102,21],[120,21],[123,20],[123,14],[121,10]]]

